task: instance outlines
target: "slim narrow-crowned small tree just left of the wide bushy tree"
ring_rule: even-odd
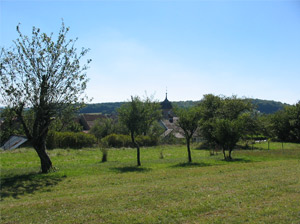
[[[177,125],[183,130],[184,133],[188,152],[188,161],[189,163],[191,163],[192,155],[190,149],[190,142],[199,125],[199,108],[194,106],[190,108],[177,109],[175,113],[179,118]]]

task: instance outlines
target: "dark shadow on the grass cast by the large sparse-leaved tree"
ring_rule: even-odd
[[[33,194],[35,191],[57,185],[66,176],[55,177],[47,174],[29,173],[1,179],[1,201],[7,197],[19,199],[20,195]],[[50,189],[49,189],[50,190]]]

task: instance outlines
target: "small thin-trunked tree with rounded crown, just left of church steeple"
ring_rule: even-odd
[[[130,132],[133,145],[137,149],[137,165],[141,166],[140,146],[136,136],[145,134],[152,123],[161,116],[160,104],[152,102],[149,98],[142,101],[139,97],[131,97],[131,101],[123,104],[119,110],[119,119]]]

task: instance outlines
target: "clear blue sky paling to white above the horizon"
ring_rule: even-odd
[[[90,48],[93,103],[130,96],[200,100],[204,94],[300,100],[300,1],[0,0],[0,47],[16,26]]]

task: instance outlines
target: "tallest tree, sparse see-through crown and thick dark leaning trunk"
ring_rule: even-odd
[[[17,114],[27,138],[37,152],[43,173],[52,168],[46,152],[45,141],[51,122],[72,104],[84,101],[82,94],[88,81],[81,65],[88,49],[79,54],[76,40],[67,39],[68,27],[62,22],[56,40],[53,33],[47,35],[33,27],[32,37],[23,35],[17,26],[19,37],[9,49],[0,55],[2,103]],[[26,122],[25,110],[30,108],[32,120]]]

